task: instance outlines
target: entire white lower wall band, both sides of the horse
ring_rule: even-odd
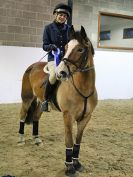
[[[0,103],[21,101],[26,68],[45,55],[41,48],[0,46]],[[96,51],[96,87],[99,99],[133,98],[133,53]]]

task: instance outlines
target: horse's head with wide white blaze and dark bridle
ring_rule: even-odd
[[[57,67],[57,79],[67,80],[75,72],[88,71],[93,67],[94,49],[81,26],[80,31],[70,29],[70,41],[65,46],[65,55]]]

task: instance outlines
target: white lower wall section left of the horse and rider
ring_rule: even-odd
[[[0,46],[0,103],[21,101],[22,76],[44,54],[40,48]]]

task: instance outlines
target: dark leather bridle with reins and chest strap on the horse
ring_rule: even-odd
[[[74,86],[75,90],[77,91],[77,93],[84,98],[84,109],[82,111],[82,115],[80,117],[80,119],[78,119],[78,121],[81,121],[86,113],[86,108],[87,108],[87,99],[92,96],[94,94],[94,90],[88,95],[85,96],[83,95],[79,89],[76,87],[75,83],[74,83],[74,79],[73,79],[73,74],[76,72],[89,72],[91,70],[94,70],[94,66],[87,66],[87,61],[88,61],[88,52],[89,49],[86,47],[84,48],[84,52],[82,53],[80,59],[78,60],[78,62],[73,62],[67,58],[63,58],[62,61],[64,62],[64,64],[67,66],[68,71],[69,71],[69,76],[71,76],[72,78],[72,85]],[[79,65],[77,65],[77,63],[79,63]],[[71,71],[70,70],[70,66],[69,64],[72,64],[76,67],[75,70]]]

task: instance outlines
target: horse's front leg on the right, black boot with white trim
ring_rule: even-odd
[[[73,165],[75,170],[82,171],[83,166],[79,162],[79,153],[80,153],[80,144],[83,136],[84,129],[87,125],[87,123],[90,120],[90,115],[87,117],[84,117],[81,121],[77,122],[77,135],[76,135],[76,143],[73,146]]]

